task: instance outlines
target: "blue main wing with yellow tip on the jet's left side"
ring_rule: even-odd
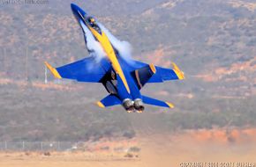
[[[45,62],[45,65],[56,78],[66,78],[90,83],[99,83],[110,68],[109,62],[105,59],[96,62],[93,56],[56,69],[50,66],[48,62]]]

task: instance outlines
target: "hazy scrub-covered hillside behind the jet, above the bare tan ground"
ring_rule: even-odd
[[[174,131],[255,127],[256,3],[245,0],[74,1],[118,39],[133,57],[171,67],[186,79],[148,84],[143,93],[174,110],[147,106],[128,114],[99,109],[99,84],[44,82],[43,62],[55,66],[87,56],[69,1],[0,5],[0,141],[79,141],[132,137],[143,129]],[[134,126],[136,125],[136,126]]]

